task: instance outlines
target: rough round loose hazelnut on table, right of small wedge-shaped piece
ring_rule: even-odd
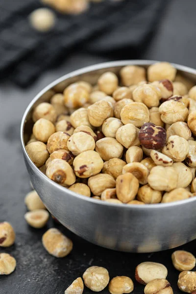
[[[90,267],[83,273],[84,284],[94,292],[102,291],[109,283],[109,273],[102,267]]]

